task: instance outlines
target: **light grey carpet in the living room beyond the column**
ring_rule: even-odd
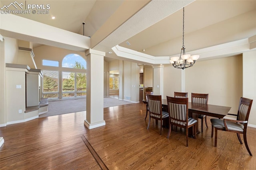
[[[66,113],[74,113],[86,110],[86,98],[49,101],[48,103],[48,113],[41,114],[39,117],[62,115]],[[104,97],[104,107],[112,107],[131,103],[132,102],[127,102],[116,98]]]

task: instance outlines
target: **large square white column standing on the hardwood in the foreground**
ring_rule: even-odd
[[[88,49],[86,55],[86,120],[88,129],[106,125],[103,117],[104,56],[105,53]]]

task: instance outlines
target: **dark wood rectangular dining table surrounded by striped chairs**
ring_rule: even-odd
[[[147,104],[148,101],[143,100],[144,104]],[[162,107],[164,111],[168,111],[167,107],[167,100],[162,99]],[[199,104],[199,103],[192,103],[188,102],[188,116],[196,119],[198,121],[198,114],[211,116],[211,117],[217,117],[217,118],[223,118],[228,114],[231,107],[226,106],[218,106],[218,105],[212,105],[212,104]],[[167,123],[167,125],[166,125]],[[165,127],[168,127],[168,122],[163,122],[163,125]],[[196,133],[200,133],[198,130],[198,123],[196,125]],[[194,136],[193,128],[189,128],[188,135],[190,137]]]

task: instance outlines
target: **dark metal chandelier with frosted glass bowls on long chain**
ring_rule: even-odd
[[[183,7],[183,45],[180,51],[180,57],[172,57],[170,59],[170,63],[175,68],[188,68],[196,63],[196,60],[199,58],[199,55],[190,55],[185,53],[185,46],[184,46],[184,7]]]

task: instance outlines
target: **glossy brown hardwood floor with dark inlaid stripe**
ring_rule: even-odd
[[[250,156],[235,133],[218,132],[211,138],[211,123],[186,147],[184,131],[144,120],[144,104],[104,108],[106,125],[88,130],[85,112],[34,119],[1,127],[0,169],[248,169],[256,167],[256,129],[248,127]],[[154,122],[154,123],[153,123]],[[200,123],[200,122],[199,122]]]

